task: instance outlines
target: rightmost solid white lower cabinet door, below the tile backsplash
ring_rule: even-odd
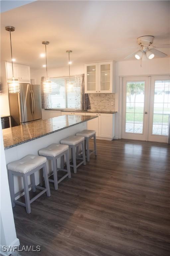
[[[113,138],[113,114],[99,114],[99,137]]]

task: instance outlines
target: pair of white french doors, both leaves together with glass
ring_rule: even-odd
[[[122,138],[168,141],[169,76],[124,77]]]

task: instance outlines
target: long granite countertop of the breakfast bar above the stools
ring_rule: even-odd
[[[3,129],[4,149],[18,146],[94,118],[97,116],[63,115]]]

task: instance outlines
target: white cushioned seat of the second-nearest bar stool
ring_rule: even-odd
[[[40,149],[39,155],[56,157],[66,150],[68,150],[68,145],[51,144],[46,148]]]

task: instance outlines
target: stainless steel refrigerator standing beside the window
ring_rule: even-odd
[[[42,118],[41,87],[37,84],[20,84],[20,93],[9,93],[11,126]]]

